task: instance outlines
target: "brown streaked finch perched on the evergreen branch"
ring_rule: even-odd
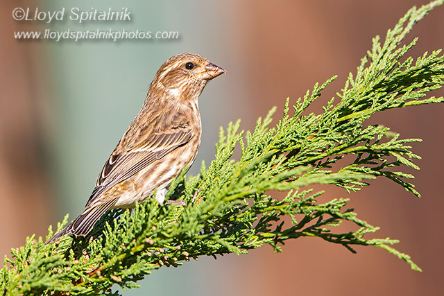
[[[86,236],[110,209],[132,209],[153,195],[163,204],[171,181],[193,164],[198,153],[198,97],[208,81],[223,73],[194,53],[180,53],[164,62],[141,110],[105,162],[85,210],[45,244],[67,234]]]

